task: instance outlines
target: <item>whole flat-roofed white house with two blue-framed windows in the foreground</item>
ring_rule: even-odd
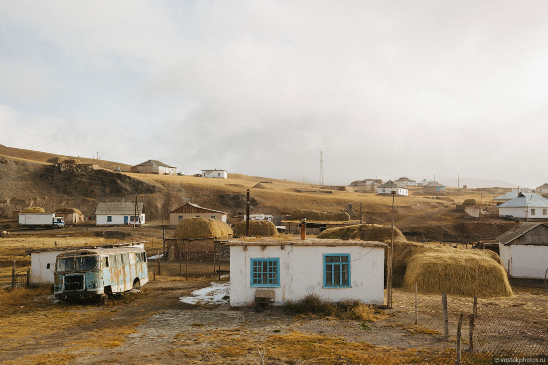
[[[258,289],[271,289],[274,304],[318,294],[335,302],[384,303],[384,250],[376,241],[307,239],[231,240],[230,305],[255,303]]]

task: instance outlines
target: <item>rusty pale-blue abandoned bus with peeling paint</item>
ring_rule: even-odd
[[[49,265],[49,264],[48,264]],[[111,294],[138,289],[149,281],[141,247],[81,248],[58,254],[55,297],[93,297],[104,302]]]

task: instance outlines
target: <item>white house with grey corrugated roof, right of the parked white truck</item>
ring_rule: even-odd
[[[135,219],[135,213],[137,219]],[[143,204],[135,202],[100,202],[95,210],[96,225],[144,224]]]

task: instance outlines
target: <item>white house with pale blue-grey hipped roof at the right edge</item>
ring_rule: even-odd
[[[518,193],[516,198],[499,205],[500,216],[548,219],[548,199],[538,193]]]

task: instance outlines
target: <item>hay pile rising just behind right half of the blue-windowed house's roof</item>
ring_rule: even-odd
[[[317,238],[337,240],[363,240],[390,242],[392,240],[392,228],[381,224],[355,224],[346,227],[335,227],[324,230]],[[394,227],[394,239],[405,240],[402,231]]]

